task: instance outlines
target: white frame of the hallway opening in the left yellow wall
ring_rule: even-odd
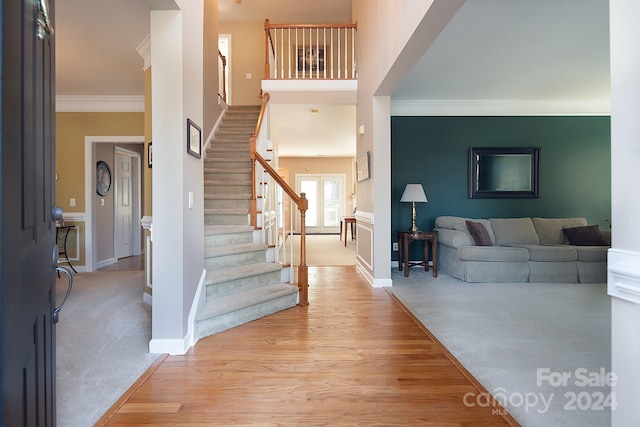
[[[144,135],[135,136],[85,136],[84,137],[84,263],[85,271],[96,270],[95,224],[93,219],[93,193],[95,191],[94,148],[99,143],[144,144]]]

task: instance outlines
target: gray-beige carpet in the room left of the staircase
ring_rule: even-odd
[[[57,425],[89,427],[158,358],[149,354],[151,308],[143,271],[74,275],[56,325]],[[58,279],[56,297],[66,289]]]

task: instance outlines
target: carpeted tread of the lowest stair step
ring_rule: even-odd
[[[205,302],[196,315],[196,321],[206,320],[221,314],[230,313],[245,307],[258,305],[265,301],[298,292],[298,287],[288,283],[272,283],[259,288],[211,299]]]

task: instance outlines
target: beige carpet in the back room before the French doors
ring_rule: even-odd
[[[287,239],[287,252],[291,246]],[[307,265],[355,265],[356,241],[349,234],[347,247],[337,234],[307,235]],[[300,236],[293,236],[293,265],[300,265]]]

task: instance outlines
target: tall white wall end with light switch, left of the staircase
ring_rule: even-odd
[[[191,345],[189,312],[204,270],[203,166],[201,159],[186,151],[187,118],[200,126],[203,123],[204,3],[160,4],[170,10],[151,11],[153,312],[149,347],[153,353],[182,354]],[[193,208],[188,206],[190,192]]]

